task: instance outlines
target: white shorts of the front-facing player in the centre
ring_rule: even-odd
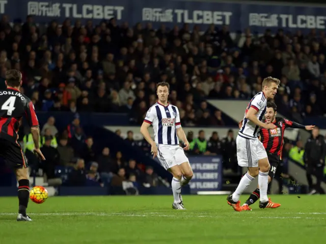
[[[181,165],[183,162],[189,162],[189,159],[184,154],[182,147],[178,145],[157,145],[157,158],[163,168],[166,170],[176,165]]]

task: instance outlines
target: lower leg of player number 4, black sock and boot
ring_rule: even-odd
[[[15,170],[16,178],[18,181],[18,200],[19,210],[17,221],[32,221],[26,214],[26,208],[30,198],[30,180],[27,168],[20,168]]]

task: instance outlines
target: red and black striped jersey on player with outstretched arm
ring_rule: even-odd
[[[260,128],[260,141],[268,154],[275,154],[280,157],[283,149],[285,128],[304,128],[305,126],[281,117],[276,117],[273,124],[277,126],[274,129]]]

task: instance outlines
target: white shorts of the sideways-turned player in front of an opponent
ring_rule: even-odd
[[[237,135],[236,156],[241,167],[258,167],[258,160],[266,158],[267,153],[258,138],[246,139]]]

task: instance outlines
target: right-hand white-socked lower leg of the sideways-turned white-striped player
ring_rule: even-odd
[[[259,207],[265,208],[269,202],[267,197],[268,188],[268,172],[270,170],[270,165],[268,158],[262,158],[258,160],[259,175],[258,175],[258,185],[260,189],[260,201]]]

